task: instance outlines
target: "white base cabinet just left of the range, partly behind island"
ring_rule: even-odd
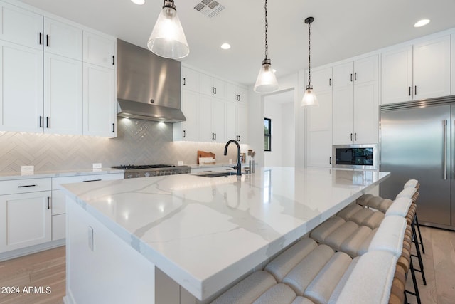
[[[123,173],[93,174],[75,177],[53,177],[52,179],[52,240],[64,239],[66,235],[66,195],[61,191],[62,184],[76,182],[97,182],[100,180],[123,179]]]

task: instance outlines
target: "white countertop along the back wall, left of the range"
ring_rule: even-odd
[[[0,172],[0,182],[11,179],[42,179],[46,177],[77,177],[80,175],[124,173],[124,170],[113,168],[102,169],[68,169],[34,172]]]

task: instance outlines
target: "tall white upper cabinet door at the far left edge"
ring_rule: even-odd
[[[43,132],[43,51],[0,41],[0,130]]]

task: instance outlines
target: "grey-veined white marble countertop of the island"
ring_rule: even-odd
[[[289,246],[387,172],[257,169],[66,184],[67,194],[199,300]]]

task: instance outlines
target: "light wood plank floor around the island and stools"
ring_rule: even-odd
[[[455,232],[422,226],[423,256],[427,286],[417,274],[422,304],[455,303]],[[417,258],[414,265],[417,267]],[[34,253],[30,256],[0,262],[0,288],[18,286],[21,293],[5,295],[0,290],[1,304],[61,304],[65,296],[65,246]],[[25,294],[23,288],[50,287],[49,294]],[[407,289],[414,290],[411,276]],[[417,303],[408,295],[410,303]]]

